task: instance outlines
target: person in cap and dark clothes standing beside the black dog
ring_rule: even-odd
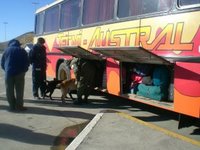
[[[46,87],[46,47],[44,46],[45,39],[40,37],[37,39],[37,43],[29,52],[30,63],[32,64],[32,84],[33,84],[33,96],[34,99],[40,99],[39,89],[41,97],[45,96]]]

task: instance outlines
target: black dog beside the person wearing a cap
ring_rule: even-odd
[[[45,95],[43,95],[43,99],[45,99],[45,96],[47,96],[46,94],[49,93],[50,99],[53,100],[51,96],[54,90],[57,88],[57,84],[61,83],[62,80],[57,80],[56,78],[54,78],[51,81],[45,80],[45,82],[46,82],[46,90],[45,90]]]

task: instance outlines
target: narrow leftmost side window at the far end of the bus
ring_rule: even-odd
[[[35,18],[35,34],[42,34],[43,32],[44,15],[39,13]]]

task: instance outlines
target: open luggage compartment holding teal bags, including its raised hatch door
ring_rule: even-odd
[[[120,93],[123,97],[172,108],[173,64],[168,60],[143,47],[92,49],[120,63]]]

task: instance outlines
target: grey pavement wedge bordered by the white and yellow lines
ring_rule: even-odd
[[[98,113],[65,150],[199,150],[200,141],[134,118]]]

